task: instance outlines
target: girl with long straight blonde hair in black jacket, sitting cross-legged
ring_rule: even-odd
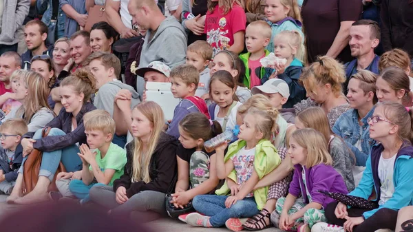
[[[95,186],[90,199],[110,209],[109,213],[129,215],[131,211],[165,212],[165,193],[176,175],[176,138],[162,131],[162,109],[153,101],[132,110],[131,132],[125,174],[114,186]],[[145,214],[147,214],[145,213]]]

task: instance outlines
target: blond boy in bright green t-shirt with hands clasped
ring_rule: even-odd
[[[95,184],[112,186],[114,180],[123,175],[123,168],[127,162],[125,149],[112,143],[115,121],[109,113],[103,109],[88,112],[83,116],[83,125],[89,147],[85,144],[79,147],[81,152],[78,156],[83,162],[81,180],[72,178],[68,184],[72,195],[81,199],[81,204],[89,200],[89,189]],[[61,183],[58,187],[59,191],[65,189]],[[61,193],[68,197],[64,191]]]

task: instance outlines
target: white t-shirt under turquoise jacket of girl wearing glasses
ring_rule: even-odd
[[[380,179],[380,200],[379,205],[384,204],[390,198],[392,198],[394,193],[394,162],[396,161],[396,154],[392,158],[385,159],[383,154],[380,156],[379,160],[379,179]]]

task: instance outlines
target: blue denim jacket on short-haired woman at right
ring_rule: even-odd
[[[370,112],[368,112],[364,118],[361,118],[361,122],[363,123],[361,135],[357,109],[350,109],[342,114],[339,119],[337,119],[334,127],[332,127],[332,131],[346,141],[346,144],[350,147],[354,156],[356,156],[356,166],[366,166],[370,149],[376,144],[376,141],[370,138],[367,121],[367,118],[372,116],[374,108],[375,107],[370,109]],[[361,151],[354,146],[359,139],[361,140]]]

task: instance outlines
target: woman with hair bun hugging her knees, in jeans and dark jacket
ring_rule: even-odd
[[[94,77],[85,70],[77,70],[72,76],[65,78],[60,86],[61,103],[64,108],[61,109],[59,116],[45,125],[52,128],[49,135],[42,138],[42,129],[38,129],[36,133],[28,132],[21,140],[25,158],[19,169],[16,185],[8,198],[9,203],[31,204],[47,199],[47,187],[52,182],[61,161],[71,174],[82,167],[81,158],[77,155],[78,145],[86,144],[83,115],[96,109],[89,102],[95,89]],[[24,162],[33,149],[43,151],[39,180],[33,191],[23,196]],[[67,178],[72,178],[72,175]]]

